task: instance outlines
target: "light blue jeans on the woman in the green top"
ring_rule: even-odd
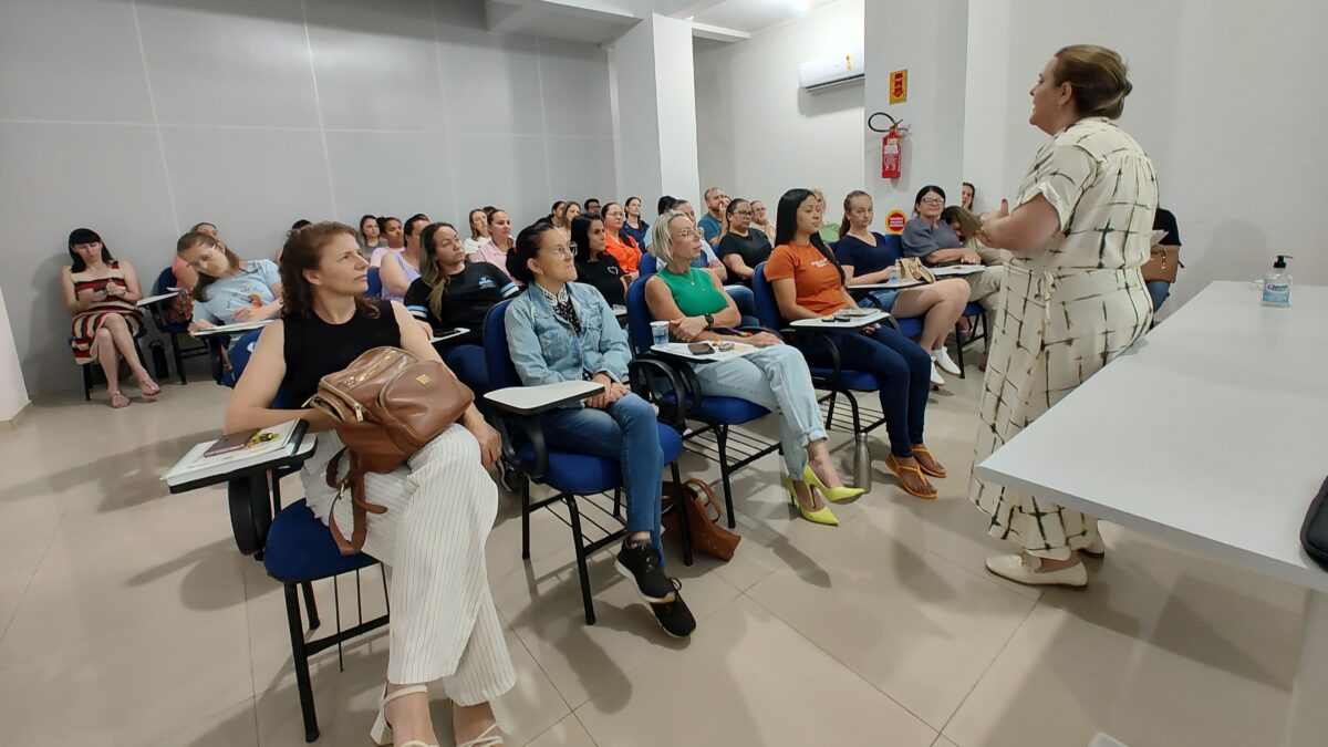
[[[794,480],[807,467],[807,444],[826,437],[811,374],[793,346],[770,346],[750,355],[696,367],[701,393],[756,403],[780,417],[784,464]]]

